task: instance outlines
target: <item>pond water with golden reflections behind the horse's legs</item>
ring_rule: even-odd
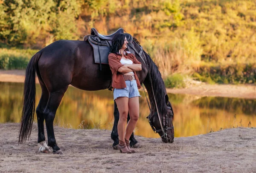
[[[36,105],[41,88],[36,85]],[[19,122],[22,111],[22,83],[0,82],[0,123]],[[159,137],[145,118],[149,110],[143,93],[140,98],[140,119],[135,134]],[[169,94],[175,110],[175,137],[194,136],[224,128],[256,127],[256,100],[223,97],[198,97]],[[113,93],[82,91],[69,87],[56,112],[55,125],[65,128],[112,129]]]

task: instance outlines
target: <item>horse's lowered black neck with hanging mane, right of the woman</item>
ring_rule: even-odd
[[[166,95],[166,88],[163,82],[163,78],[160,75],[160,72],[158,71],[158,69],[156,67],[154,67],[153,64],[151,64],[151,68],[154,70],[150,70],[150,76],[151,76],[151,81],[152,81],[152,86],[151,86],[151,82],[150,82],[150,76],[149,74],[147,75],[147,77],[145,78],[143,84],[145,85],[145,88],[148,91],[148,97],[151,103],[151,113],[156,112],[156,104],[155,104],[155,100],[154,100],[154,96],[157,102],[157,108],[160,111],[160,106],[163,105],[163,103],[165,102],[165,95]]]

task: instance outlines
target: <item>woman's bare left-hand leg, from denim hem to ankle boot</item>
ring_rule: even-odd
[[[127,120],[127,116],[128,116],[129,98],[128,97],[118,97],[115,101],[116,101],[116,105],[117,105],[117,108],[119,111],[119,121],[117,124],[117,132],[118,132],[119,140],[125,142],[125,124],[126,124],[126,120]]]

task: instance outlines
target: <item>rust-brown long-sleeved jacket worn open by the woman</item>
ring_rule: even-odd
[[[124,55],[125,58],[131,60],[134,64],[141,64],[140,61],[136,59],[134,54],[131,54],[130,52],[126,51],[126,54]],[[111,53],[108,55],[108,64],[110,66],[110,69],[112,71],[112,87],[117,89],[122,89],[126,87],[125,79],[118,70],[118,68],[122,67],[120,60],[122,59],[122,55]],[[140,81],[137,77],[137,74],[134,71],[134,76],[137,82],[138,88],[140,88]]]

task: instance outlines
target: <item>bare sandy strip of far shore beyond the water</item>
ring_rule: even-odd
[[[24,70],[0,70],[0,82],[24,82],[24,79]],[[167,88],[167,93],[256,99],[256,85],[208,85],[203,82],[193,80],[185,82],[187,84],[187,88]],[[142,88],[141,91],[143,91]]]

